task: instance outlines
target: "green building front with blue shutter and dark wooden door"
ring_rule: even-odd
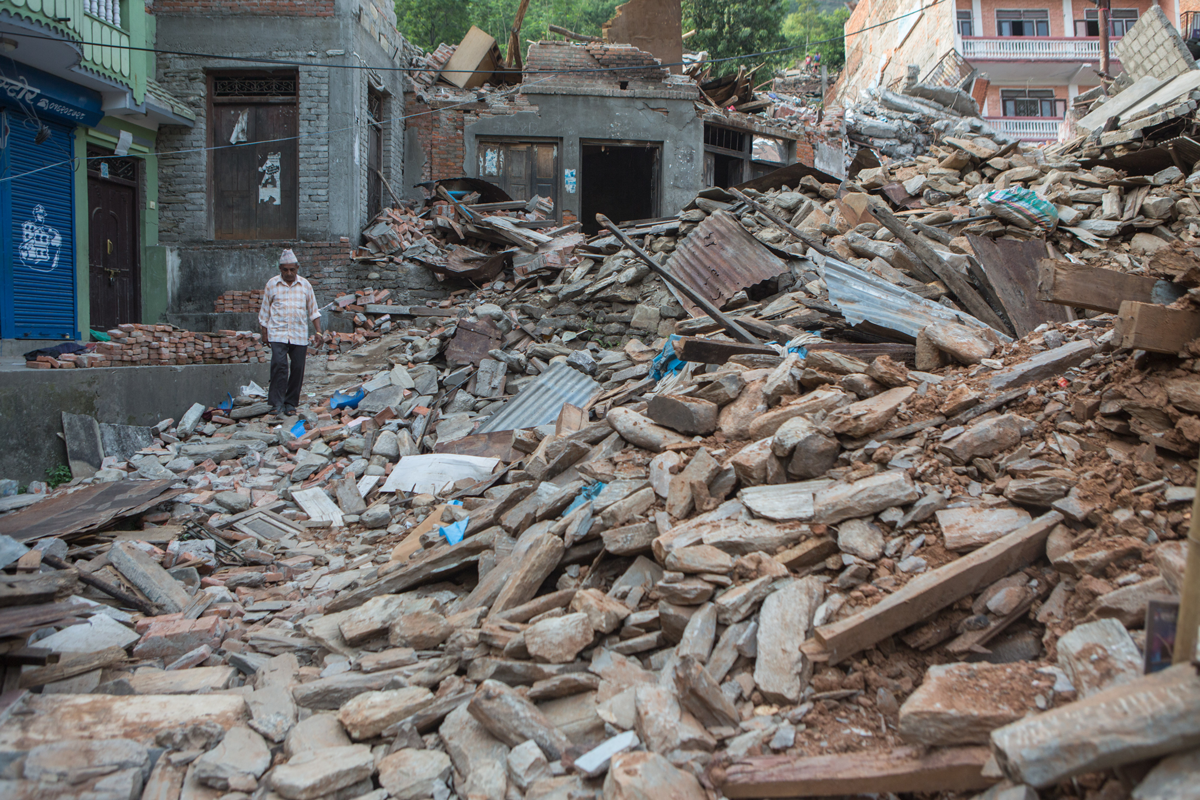
[[[0,351],[157,319],[158,130],[143,0],[0,0]]]

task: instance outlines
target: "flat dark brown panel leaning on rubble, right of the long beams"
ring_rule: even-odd
[[[1069,323],[1070,312],[1037,299],[1038,263],[1046,257],[1042,239],[989,239],[967,234],[967,241],[991,283],[1016,336],[1043,323]]]

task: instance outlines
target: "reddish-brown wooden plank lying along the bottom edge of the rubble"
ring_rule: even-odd
[[[972,792],[995,781],[983,776],[986,747],[890,751],[840,756],[758,756],[714,775],[727,798],[818,798],[828,795]]]

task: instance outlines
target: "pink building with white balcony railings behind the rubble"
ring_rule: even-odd
[[[1162,2],[1177,29],[1180,1]],[[922,80],[944,84],[977,71],[970,89],[989,124],[1008,136],[1045,142],[1057,139],[1072,100],[1099,83],[1099,23],[1091,0],[926,5],[859,1],[846,23],[847,62],[832,90],[834,102],[852,103],[871,85],[899,88],[910,64],[920,65]],[[1120,41],[1151,5],[1151,0],[1112,0],[1110,41]],[[1200,14],[1184,7],[1186,28],[1193,26],[1193,17]],[[887,20],[894,22],[869,28]],[[1110,55],[1109,70],[1116,74],[1121,62],[1114,50]]]

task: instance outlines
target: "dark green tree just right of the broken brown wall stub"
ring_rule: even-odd
[[[714,74],[762,62],[773,68],[786,62],[788,55],[752,54],[784,46],[784,11],[782,0],[684,0],[684,29],[696,30],[688,44],[694,50],[707,50],[712,59],[751,56],[714,64]]]

